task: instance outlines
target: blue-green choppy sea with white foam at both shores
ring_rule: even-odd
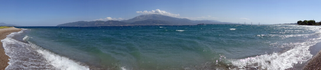
[[[312,58],[320,26],[16,27],[6,70],[285,70]]]

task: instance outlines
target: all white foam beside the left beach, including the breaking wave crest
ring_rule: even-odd
[[[40,46],[12,39],[14,35],[22,32],[13,32],[7,38],[1,40],[6,55],[11,58],[8,67],[5,68],[6,70],[89,70],[88,66],[59,56]],[[25,36],[23,40],[27,41],[29,38],[31,37]]]

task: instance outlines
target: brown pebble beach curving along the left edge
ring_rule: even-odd
[[[12,32],[19,32],[22,29],[11,27],[11,28],[4,28],[0,29],[0,40],[5,39],[7,35],[9,35]],[[4,70],[9,64],[10,57],[5,55],[4,48],[2,46],[2,42],[0,42],[0,70]]]

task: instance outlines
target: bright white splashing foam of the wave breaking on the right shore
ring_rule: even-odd
[[[312,58],[308,50],[318,41],[308,41],[303,43],[291,43],[292,49],[282,53],[264,54],[256,57],[249,57],[240,60],[230,60],[235,68],[234,70],[245,69],[245,67],[260,67],[267,70],[284,70],[293,67],[294,64],[302,64]],[[290,44],[289,44],[290,45]]]

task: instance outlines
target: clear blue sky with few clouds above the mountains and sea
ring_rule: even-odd
[[[0,0],[0,23],[56,26],[162,14],[190,20],[285,24],[321,21],[321,0]]]

